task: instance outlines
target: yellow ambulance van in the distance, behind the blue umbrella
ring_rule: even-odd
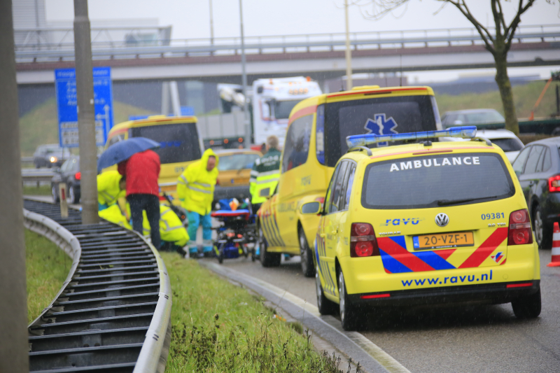
[[[153,115],[119,123],[109,132],[105,148],[132,137],[147,137],[160,143],[160,148],[154,150],[161,162],[160,188],[172,195],[176,193],[177,178],[204,152],[195,116]]]

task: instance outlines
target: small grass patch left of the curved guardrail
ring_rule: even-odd
[[[41,314],[64,283],[72,260],[40,234],[25,230],[27,322]]]

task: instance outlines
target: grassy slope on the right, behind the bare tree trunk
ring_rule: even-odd
[[[556,112],[556,85],[553,82],[542,97],[540,105],[535,110],[535,118],[549,117]],[[526,85],[516,85],[513,87],[513,99],[517,118],[528,118],[531,109],[535,105],[540,92],[545,87],[542,81],[535,81]],[[437,94],[435,97],[437,108],[443,115],[446,111],[464,110],[469,108],[494,108],[503,115],[502,100],[500,92],[491,91],[484,93],[465,93],[452,96],[451,94]]]

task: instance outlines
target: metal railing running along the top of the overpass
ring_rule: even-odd
[[[492,29],[491,29],[492,30]],[[542,25],[519,27],[514,40],[524,41],[558,41],[560,25]],[[96,58],[158,58],[179,57],[186,55],[237,55],[241,48],[239,38],[197,38],[173,39],[158,45],[130,46],[125,44],[92,43],[92,55]],[[337,50],[344,47],[344,34],[309,34],[288,36],[253,36],[245,38],[245,49],[251,53],[269,52],[310,52]],[[475,29],[432,29],[411,31],[356,32],[351,34],[351,46],[354,50],[365,48],[407,48],[407,46],[425,47],[441,45],[482,44],[482,38]],[[435,45],[437,44],[437,45]],[[41,45],[16,45],[17,62],[37,60],[72,59],[73,43]]]

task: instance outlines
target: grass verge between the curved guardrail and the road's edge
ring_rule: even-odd
[[[263,300],[195,260],[162,258],[173,291],[166,372],[342,373],[340,358],[314,351],[309,332],[274,317]]]

